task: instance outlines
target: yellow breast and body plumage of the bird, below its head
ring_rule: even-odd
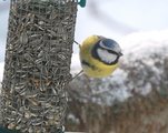
[[[100,62],[99,60],[92,58],[91,55],[91,50],[95,45],[100,40],[99,37],[92,35],[87,38],[81,48],[80,48],[80,61],[83,62],[81,63],[83,72],[92,78],[103,78],[110,75],[118,64],[105,64]]]

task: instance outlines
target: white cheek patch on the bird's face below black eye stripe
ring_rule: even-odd
[[[98,49],[98,55],[102,61],[107,63],[111,63],[117,59],[116,54],[109,53],[108,51],[101,49]]]

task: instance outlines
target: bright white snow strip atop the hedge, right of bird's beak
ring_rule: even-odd
[[[119,40],[119,43],[122,45],[122,49],[126,53],[136,53],[139,50],[144,50],[146,53],[150,53],[152,51],[156,51],[157,48],[160,48],[161,45],[167,45],[167,37],[168,30],[149,32],[141,31],[126,35],[125,38]]]

